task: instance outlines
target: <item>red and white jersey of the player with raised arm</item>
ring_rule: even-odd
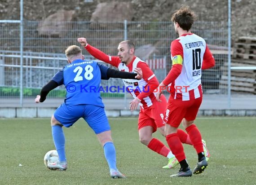
[[[150,67],[146,64],[146,62],[142,61],[139,57],[134,57],[132,62],[126,66],[122,63],[119,57],[109,56],[106,53],[94,48],[91,45],[87,45],[85,49],[93,55],[93,57],[111,64],[112,66],[117,67],[121,71],[132,72],[135,68],[141,68],[143,78],[141,80],[137,79],[123,79],[126,88],[129,89],[132,97],[138,98],[141,100],[139,104],[142,108],[147,108],[152,106],[152,102],[155,101],[156,93],[153,93],[154,89],[158,87],[159,82],[154,75],[154,72],[150,69]]]

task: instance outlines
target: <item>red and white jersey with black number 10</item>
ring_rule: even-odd
[[[193,33],[181,35],[171,43],[172,61],[178,55],[183,58],[182,70],[171,84],[171,96],[183,101],[201,97],[203,59],[213,57],[205,40]]]

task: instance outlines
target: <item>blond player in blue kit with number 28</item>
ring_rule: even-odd
[[[65,153],[65,136],[62,126],[71,127],[79,118],[83,118],[93,129],[101,142],[106,161],[110,168],[112,178],[125,178],[116,167],[115,146],[111,138],[104,104],[100,96],[101,79],[124,78],[141,79],[142,71],[135,69],[136,73],[129,73],[110,69],[95,61],[84,60],[81,49],[71,45],[65,50],[68,65],[58,71],[35,98],[35,102],[43,102],[47,94],[64,84],[66,86],[66,99],[55,110],[52,119],[52,135],[55,148],[59,155],[56,163],[49,163],[52,170],[66,170],[67,159]]]

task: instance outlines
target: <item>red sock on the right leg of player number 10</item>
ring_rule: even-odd
[[[189,127],[187,127],[186,131],[190,136],[190,140],[192,141],[192,144],[196,152],[198,154],[203,152],[202,136],[199,129],[195,126],[195,124],[192,124]]]

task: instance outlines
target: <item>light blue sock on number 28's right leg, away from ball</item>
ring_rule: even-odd
[[[116,156],[115,156],[115,145],[112,142],[106,142],[103,146],[105,158],[107,160],[110,169],[116,168]]]

